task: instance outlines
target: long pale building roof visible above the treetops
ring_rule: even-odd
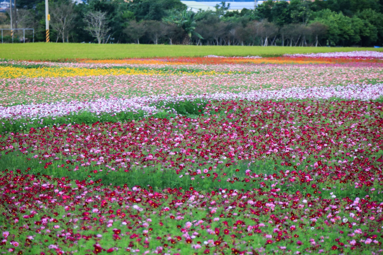
[[[198,12],[199,10],[215,11],[215,6],[220,5],[221,2],[196,2],[196,1],[181,1],[183,4],[188,6],[188,10]],[[257,4],[260,5],[263,1],[257,1]],[[226,2],[226,5],[230,4],[228,11],[241,11],[243,8],[254,9],[255,1],[253,2]]]

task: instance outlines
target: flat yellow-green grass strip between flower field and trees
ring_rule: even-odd
[[[14,60],[65,60],[77,58],[121,59],[149,57],[280,56],[283,54],[339,52],[354,50],[383,51],[383,48],[281,47],[281,46],[195,46],[154,44],[75,44],[45,43],[0,44],[0,58]]]

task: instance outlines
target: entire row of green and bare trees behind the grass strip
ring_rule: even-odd
[[[18,28],[45,39],[44,0],[17,0]],[[188,11],[180,0],[50,0],[51,41],[282,46],[382,46],[383,0],[267,0],[255,10]],[[9,24],[9,13],[0,23]],[[15,27],[15,26],[13,26]]]

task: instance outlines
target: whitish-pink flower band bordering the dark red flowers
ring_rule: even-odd
[[[126,98],[97,99],[95,101],[70,101],[52,102],[43,104],[26,104],[16,106],[0,106],[0,119],[20,119],[26,118],[36,120],[46,117],[66,116],[79,112],[90,112],[95,115],[103,113],[134,112],[139,110],[151,115],[161,109],[153,106],[160,102],[175,103],[188,100],[232,100],[232,99],[331,99],[341,98],[345,100],[375,100],[383,96],[383,83],[378,84],[349,84],[347,86],[334,87],[293,87],[279,90],[255,90],[243,93],[214,93],[203,95],[180,95],[180,96],[144,96]]]

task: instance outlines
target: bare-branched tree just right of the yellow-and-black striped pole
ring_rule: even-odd
[[[69,42],[69,32],[74,28],[77,18],[74,3],[72,1],[51,2],[49,10],[52,13],[50,25],[58,33],[57,40],[61,36],[62,42]]]

